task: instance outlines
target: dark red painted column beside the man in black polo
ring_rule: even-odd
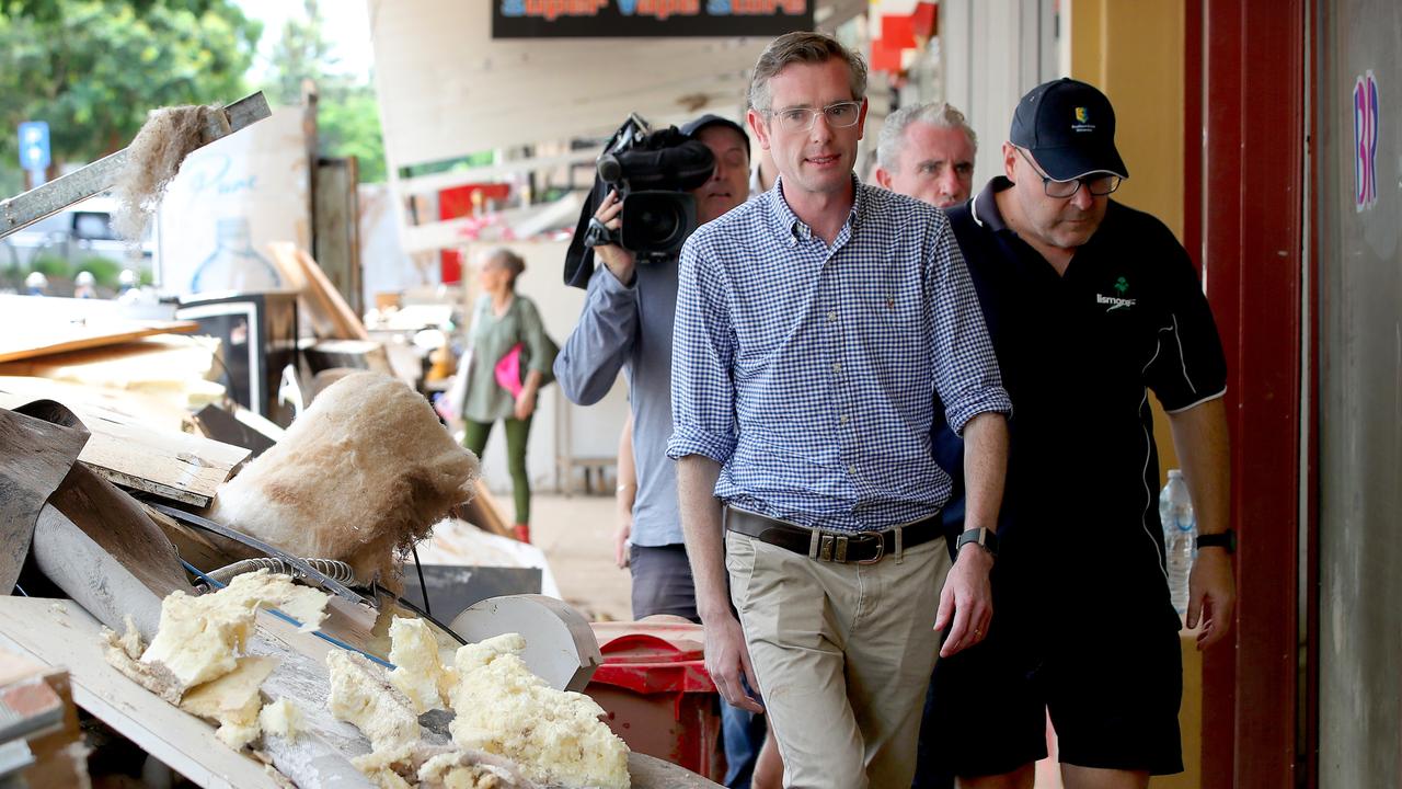
[[[1241,538],[1235,644],[1203,661],[1207,788],[1294,785],[1305,1],[1187,3],[1186,236],[1227,350]]]

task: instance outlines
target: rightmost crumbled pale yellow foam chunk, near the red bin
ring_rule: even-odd
[[[453,743],[506,757],[537,783],[628,789],[628,747],[599,720],[604,710],[531,674],[524,647],[508,633],[457,650]]]

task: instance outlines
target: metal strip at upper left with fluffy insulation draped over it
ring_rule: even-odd
[[[269,115],[272,115],[272,110],[262,91],[245,95],[215,115],[213,122],[200,135],[200,147]],[[81,199],[112,188],[122,168],[126,167],[126,159],[128,149],[123,147],[42,187],[0,201],[0,239],[41,219],[48,219]]]

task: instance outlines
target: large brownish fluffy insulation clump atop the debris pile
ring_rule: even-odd
[[[210,517],[296,556],[395,583],[395,552],[471,498],[477,458],[428,400],[358,372],[317,396],[272,449],[224,483]]]

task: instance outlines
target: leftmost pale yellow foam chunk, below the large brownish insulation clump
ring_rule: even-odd
[[[181,691],[223,677],[236,668],[259,605],[283,609],[308,630],[321,625],[327,595],[268,570],[244,573],[200,597],[171,592],[161,601],[161,622],[142,663],[163,665]]]

